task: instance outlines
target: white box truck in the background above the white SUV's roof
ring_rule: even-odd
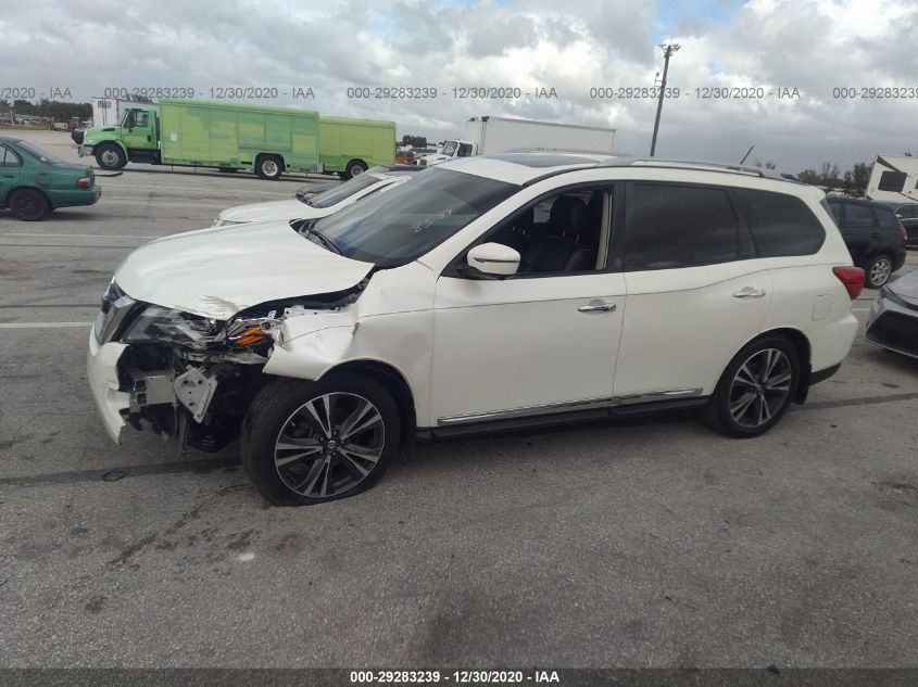
[[[455,157],[494,155],[519,149],[564,150],[612,153],[615,129],[552,124],[505,117],[471,117],[465,123],[461,139],[450,139],[440,151],[415,161],[416,165],[437,165]]]

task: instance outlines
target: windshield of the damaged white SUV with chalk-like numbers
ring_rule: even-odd
[[[432,168],[319,219],[313,229],[347,257],[397,267],[417,259],[518,190],[512,183]]]

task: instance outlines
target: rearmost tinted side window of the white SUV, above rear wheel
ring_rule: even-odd
[[[822,245],[822,225],[798,198],[750,189],[735,193],[759,256],[813,255]],[[834,214],[837,206],[830,207]]]

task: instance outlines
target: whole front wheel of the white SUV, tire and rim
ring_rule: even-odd
[[[330,431],[324,429],[326,397]],[[316,415],[307,407],[313,402]],[[357,431],[350,434],[355,441],[345,442],[348,421],[362,408],[364,415],[353,422]],[[262,389],[249,407],[240,453],[255,487],[275,506],[322,504],[360,494],[379,480],[398,450],[400,431],[395,402],[370,379],[351,373],[317,382],[281,379]]]

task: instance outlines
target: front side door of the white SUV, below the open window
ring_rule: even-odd
[[[607,195],[604,209],[595,215],[603,234],[596,237],[598,254],[607,252],[611,205]],[[531,217],[532,209],[530,205],[524,215],[528,212]],[[544,232],[544,227],[539,231]],[[563,233],[558,232],[558,249],[566,246]],[[525,260],[529,249],[520,252]],[[465,253],[457,260],[464,262]],[[620,271],[606,269],[604,262],[603,255],[594,269],[524,270],[502,280],[468,278],[448,268],[435,294],[433,424],[607,406],[621,333],[625,280]]]

